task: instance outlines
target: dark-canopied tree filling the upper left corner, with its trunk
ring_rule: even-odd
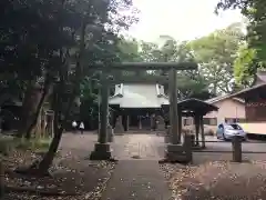
[[[70,29],[59,24],[73,18],[63,1],[1,1],[1,70],[24,82],[19,136],[30,137],[57,71],[57,51],[70,44]],[[68,27],[68,26],[65,26]],[[69,27],[75,27],[69,23]],[[69,28],[68,27],[68,28]],[[71,29],[72,30],[72,29]]]

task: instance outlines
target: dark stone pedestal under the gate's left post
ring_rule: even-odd
[[[94,151],[91,152],[90,160],[109,160],[111,151],[109,143],[95,143]]]

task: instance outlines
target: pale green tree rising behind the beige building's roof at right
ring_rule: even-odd
[[[244,33],[239,23],[190,42],[201,66],[201,73],[211,83],[212,92],[229,93],[234,82],[233,66]]]

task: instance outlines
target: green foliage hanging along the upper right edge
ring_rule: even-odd
[[[266,63],[266,1],[264,0],[221,0],[216,10],[238,8],[247,18],[247,47],[242,48],[235,62],[238,83],[248,84],[258,68]]]

